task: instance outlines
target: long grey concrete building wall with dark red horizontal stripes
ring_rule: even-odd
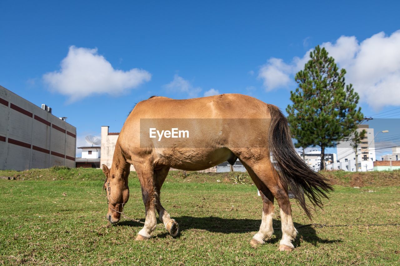
[[[0,169],[75,167],[76,128],[0,86]]]

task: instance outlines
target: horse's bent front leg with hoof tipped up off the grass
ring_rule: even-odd
[[[169,167],[164,167],[159,170],[154,171],[154,183],[156,186],[157,197],[156,197],[156,209],[158,212],[158,216],[160,221],[165,225],[167,231],[171,234],[171,236],[176,236],[179,233],[179,225],[176,220],[170,217],[170,214],[164,209],[160,202],[160,190],[162,184],[165,181],[165,178],[168,175]]]

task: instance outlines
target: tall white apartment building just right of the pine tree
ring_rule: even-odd
[[[374,169],[373,161],[376,161],[374,129],[368,125],[360,125],[357,131],[361,132],[364,129],[366,134],[357,148],[357,166],[356,153],[350,145],[350,141],[342,141],[336,146],[340,164],[339,169],[350,172],[355,172],[356,167],[358,167],[358,171],[372,171]]]

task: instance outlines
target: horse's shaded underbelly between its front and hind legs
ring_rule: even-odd
[[[199,171],[218,165],[233,156],[232,151],[227,148],[162,149],[158,152],[155,164],[186,171]]]

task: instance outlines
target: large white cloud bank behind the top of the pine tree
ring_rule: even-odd
[[[330,56],[347,71],[346,82],[352,83],[365,101],[374,109],[385,105],[400,105],[400,30],[390,36],[380,32],[358,42],[355,36],[341,36],[336,42],[325,42]],[[309,60],[310,49],[302,58],[292,62],[271,58],[260,67],[258,77],[267,91],[294,85],[294,75]]]

